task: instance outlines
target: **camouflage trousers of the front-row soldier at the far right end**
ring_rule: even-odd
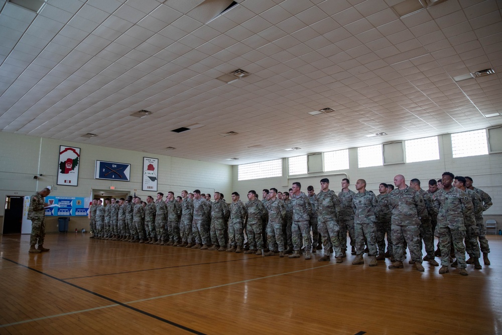
[[[450,243],[453,244],[458,269],[465,269],[465,226],[460,224],[439,224],[436,226],[436,237],[439,238],[439,250],[441,250],[441,265],[450,265]]]

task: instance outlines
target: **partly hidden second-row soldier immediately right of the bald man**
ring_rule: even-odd
[[[434,213],[432,197],[428,192],[420,188],[420,180],[418,180],[417,178],[410,180],[410,187],[418,191],[418,193],[422,196],[422,199],[424,199],[425,203],[425,210],[419,217],[420,237],[424,241],[425,252],[427,253],[427,255],[425,255],[424,257],[424,261],[428,261],[431,265],[439,266],[438,262],[436,262],[436,260],[434,259],[434,232],[432,231],[430,215],[430,213]]]

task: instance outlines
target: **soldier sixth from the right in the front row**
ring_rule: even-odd
[[[279,248],[279,257],[284,257],[284,240],[282,226],[284,217],[286,216],[286,206],[284,202],[277,197],[277,188],[272,187],[267,193],[268,200],[265,206],[269,213],[269,221],[267,223],[267,243],[269,251],[265,256],[274,256],[274,244],[277,242]]]

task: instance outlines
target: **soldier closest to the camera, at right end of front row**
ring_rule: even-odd
[[[443,173],[443,188],[434,193],[434,210],[438,213],[438,225],[435,235],[439,238],[439,249],[441,250],[440,274],[449,272],[450,265],[450,243],[453,244],[455,257],[457,259],[459,274],[467,276],[465,270],[465,226],[464,215],[472,211],[472,201],[461,189],[453,187],[453,174]]]

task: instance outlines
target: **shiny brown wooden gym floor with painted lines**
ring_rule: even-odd
[[[499,236],[467,277],[88,236],[0,236],[0,334],[502,333]]]

